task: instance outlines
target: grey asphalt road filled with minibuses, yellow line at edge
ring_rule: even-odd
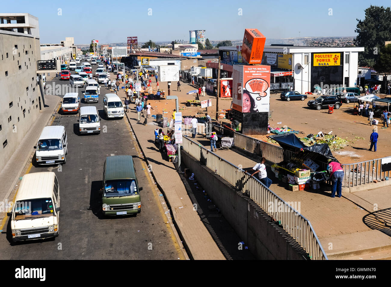
[[[93,66],[93,70],[96,68]],[[54,80],[56,84],[69,84],[68,80]],[[81,99],[82,91],[83,88],[79,89]],[[56,173],[61,195],[59,237],[13,244],[9,241],[10,222],[7,220],[4,226],[7,236],[0,236],[0,259],[184,259],[167,223],[165,204],[161,204],[149,175],[142,170],[145,166],[128,124],[125,119],[107,120],[102,113],[105,93],[108,90],[101,87],[99,103],[85,104],[82,100],[81,105],[97,107],[101,130],[106,126],[107,132],[77,135],[77,114],[56,114],[52,125],[65,126],[68,134],[67,162],[61,169],[57,166],[29,169],[29,173]],[[104,160],[110,155],[132,155],[135,160],[138,180],[143,187],[142,211],[137,216],[103,218],[100,215],[97,191],[102,185]]]

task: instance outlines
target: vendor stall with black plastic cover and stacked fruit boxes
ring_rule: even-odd
[[[272,171],[282,182],[289,184],[291,191],[319,189],[320,184],[329,180],[327,161],[338,162],[328,144],[305,146],[294,134],[269,136],[284,150],[294,152],[289,160],[273,164]]]

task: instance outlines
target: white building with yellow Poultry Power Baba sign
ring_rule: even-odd
[[[240,51],[240,46],[219,47],[228,77],[233,64],[247,64]],[[287,89],[289,85],[299,93],[314,92],[316,86],[354,87],[361,51],[363,47],[271,45],[265,46],[261,64],[271,66],[271,91]]]

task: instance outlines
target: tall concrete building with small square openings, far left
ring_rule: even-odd
[[[37,82],[38,18],[0,14],[0,171],[43,109]]]

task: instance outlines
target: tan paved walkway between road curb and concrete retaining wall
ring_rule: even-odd
[[[193,209],[192,201],[174,165],[168,161],[167,155],[160,153],[156,148],[154,130],[158,126],[152,122],[153,119],[149,119],[147,126],[142,124],[144,118],[138,122],[133,109],[134,104],[130,107],[132,109],[126,115],[140,143],[143,156],[172,208],[174,220],[192,257],[195,260],[224,260],[225,257],[212,235]]]

